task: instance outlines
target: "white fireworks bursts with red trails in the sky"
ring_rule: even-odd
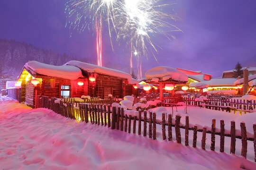
[[[82,32],[86,27],[97,32],[98,64],[101,63],[101,32],[104,25],[108,28],[111,39],[123,40],[130,51],[136,51],[137,60],[147,51],[154,55],[160,47],[153,41],[156,35],[165,35],[168,39],[172,31],[181,31],[172,24],[177,18],[165,13],[166,0],[69,0],[65,13],[70,30]],[[115,36],[112,36],[114,33]],[[131,46],[130,46],[131,45]],[[113,47],[112,47],[113,48]],[[155,55],[154,55],[155,57]],[[129,56],[132,67],[132,52]],[[155,57],[156,59],[156,57]]]

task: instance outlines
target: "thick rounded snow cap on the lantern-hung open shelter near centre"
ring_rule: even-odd
[[[166,66],[159,66],[148,70],[145,73],[146,79],[159,78],[162,81],[171,79],[179,82],[187,82],[188,76],[183,72]]]

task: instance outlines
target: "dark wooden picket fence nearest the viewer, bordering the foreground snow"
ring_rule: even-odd
[[[202,132],[202,139],[201,139],[201,148],[205,150],[206,145],[206,134],[211,134],[210,140],[210,150],[215,151],[215,136],[220,136],[220,152],[224,152],[224,137],[229,136],[231,138],[230,142],[230,153],[235,154],[236,151],[236,139],[241,139],[242,148],[241,148],[241,155],[247,158],[247,141],[253,141],[254,143],[254,151],[255,151],[255,161],[256,161],[256,124],[253,125],[254,129],[254,137],[249,138],[247,137],[247,130],[246,125],[244,122],[240,123],[241,127],[241,136],[236,136],[236,126],[235,121],[231,121],[231,130],[230,134],[225,133],[225,124],[224,120],[220,120],[220,131],[216,132],[216,120],[212,119],[212,126],[211,130],[207,130],[206,127],[199,129],[197,126],[189,127],[189,116],[186,116],[185,125],[181,125],[180,120],[181,116],[176,115],[175,119],[172,117],[171,114],[168,115],[168,119],[166,120],[166,114],[162,114],[162,120],[156,119],[155,112],[149,112],[149,117],[147,117],[147,111],[145,110],[142,112],[141,110],[138,111],[137,116],[131,116],[124,114],[123,108],[115,108],[112,107],[110,109],[109,105],[102,105],[96,103],[79,103],[78,107],[74,105],[74,103],[60,101],[55,102],[56,98],[49,98],[47,96],[42,96],[38,100],[38,107],[40,108],[47,108],[50,110],[55,111],[55,113],[60,114],[64,117],[70,119],[77,119],[79,121],[84,121],[85,123],[91,122],[94,125],[101,125],[101,126],[108,126],[111,129],[117,129],[120,131],[131,133],[131,126],[133,126],[134,134],[147,136],[149,138],[156,139],[156,124],[162,125],[162,138],[163,140],[172,141],[173,140],[173,130],[175,130],[175,136],[177,143],[181,144],[181,128],[185,129],[185,145],[189,145],[189,131],[193,132],[193,142],[192,147],[196,147],[197,143],[197,133]],[[142,117],[143,113],[143,117]],[[133,125],[131,121],[133,120]],[[175,122],[174,124],[172,122]],[[142,127],[143,123],[143,127]],[[138,126],[137,126],[138,125]],[[148,127],[147,127],[148,126]],[[166,126],[167,126],[167,135],[166,136]]]

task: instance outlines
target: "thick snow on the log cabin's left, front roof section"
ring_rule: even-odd
[[[28,61],[24,67],[31,71],[32,74],[55,76],[69,80],[76,80],[82,77],[82,71],[74,66],[53,66],[38,61]]]

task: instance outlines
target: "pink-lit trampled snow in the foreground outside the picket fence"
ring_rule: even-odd
[[[0,129],[4,170],[256,169],[241,156],[78,122],[7,97],[0,97]]]

